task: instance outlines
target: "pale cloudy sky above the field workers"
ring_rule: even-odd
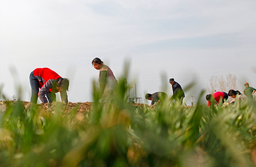
[[[1,0],[1,93],[30,101],[30,73],[48,67],[70,79],[70,102],[90,102],[95,57],[117,79],[128,62],[130,97],[136,84],[140,103],[150,104],[146,93],[171,96],[170,78],[186,104],[210,93],[212,76],[236,75],[239,91],[245,82],[256,88],[255,18],[255,0]]]

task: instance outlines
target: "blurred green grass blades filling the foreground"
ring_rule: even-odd
[[[119,82],[113,103],[99,103],[94,83],[90,113],[65,104],[21,101],[0,112],[1,167],[254,166],[256,107],[184,107],[168,99],[154,108],[127,103]],[[203,95],[203,91],[201,96]]]

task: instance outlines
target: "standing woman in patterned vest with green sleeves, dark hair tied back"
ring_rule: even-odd
[[[100,98],[102,98],[102,102],[113,100],[118,82],[112,70],[107,65],[104,65],[99,58],[93,59],[92,65],[96,70],[99,70]]]

